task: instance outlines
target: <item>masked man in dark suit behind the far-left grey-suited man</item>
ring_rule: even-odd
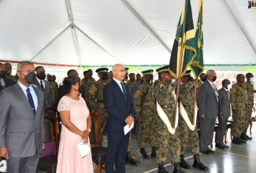
[[[51,107],[50,104],[50,83],[46,81],[46,71],[42,66],[37,66],[35,68],[36,74],[36,80],[35,85],[43,90],[44,93],[44,109]]]

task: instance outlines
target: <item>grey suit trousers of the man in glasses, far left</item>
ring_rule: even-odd
[[[7,161],[7,173],[35,173],[39,164],[39,154],[28,157],[9,157]]]

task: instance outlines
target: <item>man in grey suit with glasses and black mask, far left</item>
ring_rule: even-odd
[[[29,61],[17,65],[18,83],[0,96],[0,156],[8,173],[35,173],[45,148],[43,92],[32,83],[35,68]]]

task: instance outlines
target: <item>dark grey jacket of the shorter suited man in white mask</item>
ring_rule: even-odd
[[[218,90],[220,105],[221,105],[221,114],[223,117],[227,118],[230,116],[230,100],[228,98],[228,92],[222,87]]]

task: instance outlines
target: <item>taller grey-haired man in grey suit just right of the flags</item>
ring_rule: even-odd
[[[198,116],[200,116],[200,151],[204,154],[215,153],[210,149],[215,120],[220,115],[219,96],[213,82],[217,79],[214,70],[206,72],[206,82],[198,90]]]

